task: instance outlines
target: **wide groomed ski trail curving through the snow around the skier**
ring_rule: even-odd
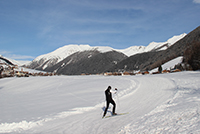
[[[27,122],[28,124],[32,123],[32,126],[26,129],[20,129],[16,123],[16,128],[14,127],[13,130],[8,130],[7,132],[42,134],[78,134],[80,132],[104,134],[123,133],[124,126],[128,126],[129,118],[132,118],[134,121],[148,114],[155,109],[156,106],[161,105],[171,98],[173,92],[171,92],[170,89],[175,88],[175,84],[172,80],[159,76],[123,76],[116,79],[118,82],[122,80],[129,81],[129,85],[124,90],[119,89],[118,96],[113,97],[116,102],[120,100],[120,102],[117,103],[117,112],[129,112],[129,114],[125,116],[101,119],[102,115],[99,115],[99,111],[105,102],[100,102],[95,106],[77,107],[70,111],[63,111],[35,122]],[[58,86],[62,86],[63,84],[63,81],[60,81]],[[56,88],[56,90],[58,89],[59,87]],[[104,92],[104,89],[102,89],[102,92]],[[73,93],[69,94],[77,97]],[[87,101],[81,97],[78,98],[82,101]],[[107,114],[109,114],[109,112]],[[121,118],[123,118],[123,121],[121,121]],[[20,122],[18,124],[20,124]],[[0,124],[0,127],[3,127],[3,125],[9,124]],[[106,130],[110,127],[114,129],[107,132]]]

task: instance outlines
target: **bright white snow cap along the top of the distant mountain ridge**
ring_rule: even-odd
[[[121,53],[124,53],[127,56],[132,56],[138,53],[143,53],[143,52],[149,52],[152,50],[165,50],[167,49],[169,46],[173,45],[175,42],[177,42],[178,40],[182,39],[183,37],[185,37],[185,33],[178,35],[178,36],[173,36],[172,38],[168,39],[166,42],[151,42],[147,47],[145,46],[131,46],[129,48],[126,49],[113,49],[112,47],[109,46],[90,46],[88,44],[84,45],[84,44],[70,44],[70,45],[65,45],[63,47],[60,47],[58,49],[56,49],[53,52],[50,52],[48,54],[44,54],[44,55],[40,55],[38,56],[36,59],[33,60],[33,62],[39,62],[40,64],[44,64],[45,62],[45,66],[43,65],[43,68],[47,67],[48,64],[52,64],[51,61],[48,60],[54,60],[54,63],[58,63],[61,60],[65,59],[66,57],[76,53],[76,52],[82,52],[82,51],[90,51],[90,50],[98,50],[101,53],[105,53],[108,51],[118,51]],[[48,62],[47,62],[48,61]]]

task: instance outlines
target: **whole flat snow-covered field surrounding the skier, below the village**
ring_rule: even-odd
[[[108,85],[129,114],[102,119]],[[200,72],[5,78],[0,108],[0,133],[200,133]]]

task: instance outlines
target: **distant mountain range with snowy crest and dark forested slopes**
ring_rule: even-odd
[[[199,40],[199,31],[200,27],[188,35],[183,33],[173,36],[165,42],[151,42],[148,46],[131,46],[126,49],[65,45],[38,56],[26,67],[65,75],[151,70],[178,56],[183,56],[186,44]]]

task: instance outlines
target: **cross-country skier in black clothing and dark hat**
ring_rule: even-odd
[[[115,88],[115,90],[117,91],[117,88]],[[110,103],[113,105],[112,115],[117,115],[115,113],[116,104],[115,101],[112,99],[111,86],[108,86],[108,88],[105,91],[105,95],[106,95],[106,109],[104,111],[103,117],[105,117]]]

